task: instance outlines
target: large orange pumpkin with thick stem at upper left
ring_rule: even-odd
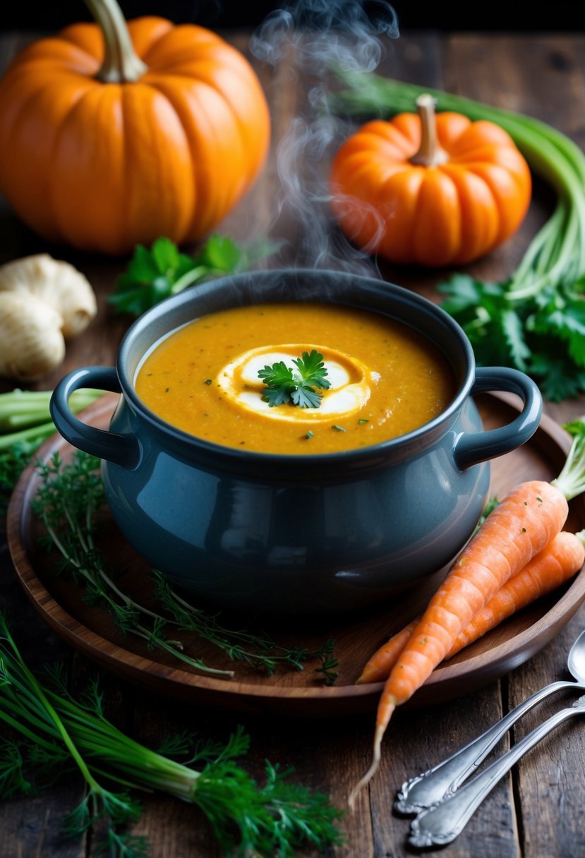
[[[203,27],[88,5],[98,23],[29,45],[0,83],[0,188],[37,233],[83,250],[195,242],[262,166],[260,82]]]

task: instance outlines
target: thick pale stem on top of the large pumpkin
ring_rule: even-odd
[[[85,0],[104,36],[104,62],[96,75],[106,83],[137,81],[148,66],[138,57],[116,0]]]

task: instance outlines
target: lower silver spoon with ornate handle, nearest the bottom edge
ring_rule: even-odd
[[[552,729],[574,715],[585,713],[585,697],[581,697],[569,708],[556,712],[532,733],[510,748],[494,763],[465,783],[458,792],[448,795],[443,801],[419,813],[410,824],[409,841],[413,846],[444,846],[455,840],[473,816],[485,796],[501,777],[524,756],[537,742],[544,739]]]

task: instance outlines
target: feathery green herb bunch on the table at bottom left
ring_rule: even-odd
[[[196,805],[208,819],[220,849],[242,856],[280,855],[286,858],[304,844],[323,849],[340,843],[336,820],[341,811],[320,793],[290,782],[290,770],[266,763],[261,786],[236,762],[250,740],[237,728],[222,748],[208,746],[197,758],[213,758],[201,769],[143,746],[108,721],[102,694],[92,683],[81,700],[67,690],[66,677],[52,670],[41,682],[27,667],[0,613],[0,721],[21,735],[0,746],[0,797],[33,792],[39,776],[78,770],[87,783],[79,807],[64,819],[65,831],[79,835],[98,821],[106,824],[104,849],[109,855],[140,858],[148,842],[126,831],[141,806],[132,789],[159,790]],[[179,736],[167,747],[185,750]],[[116,784],[113,791],[108,784]],[[119,788],[119,790],[118,790]]]

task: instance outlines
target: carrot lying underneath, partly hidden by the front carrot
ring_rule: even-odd
[[[561,530],[521,571],[510,577],[485,607],[472,617],[445,659],[455,656],[455,653],[473,644],[473,641],[485,635],[487,631],[495,628],[516,611],[520,611],[522,607],[526,607],[542,595],[551,593],[553,589],[575,575],[583,563],[585,563],[585,530],[581,530],[578,534]],[[422,614],[419,614],[371,656],[357,680],[357,685],[388,679],[390,670],[400,658],[421,617]]]

